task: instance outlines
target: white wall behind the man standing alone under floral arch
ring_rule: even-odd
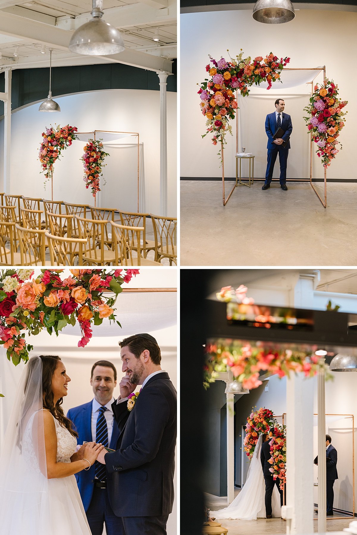
[[[291,58],[289,67],[318,67],[326,64],[327,77],[339,86],[339,96],[349,101],[347,122],[339,139],[343,151],[328,168],[329,178],[354,179],[353,125],[357,111],[354,98],[356,74],[344,60],[346,51],[356,48],[355,27],[357,13],[340,11],[300,10],[293,21],[272,27],[252,19],[252,11],[214,11],[181,15],[181,169],[183,177],[220,177],[221,169],[217,157],[217,147],[205,133],[205,118],[200,111],[197,90],[207,76],[205,65],[208,54],[216,60],[228,58],[227,49],[234,57],[243,48],[245,57],[265,56],[270,51],[277,56]],[[328,50],[320,45],[326,35],[326,28],[333,28],[333,46]],[[282,73],[283,78],[284,72]],[[319,77],[319,81],[322,77]],[[289,91],[290,93],[290,91]],[[296,90],[299,93],[299,90]],[[269,98],[268,98],[269,97]],[[253,95],[240,97],[241,123],[244,135],[241,146],[246,152],[254,152],[256,177],[265,176],[266,142],[264,121],[267,113],[274,111],[274,101],[283,98],[281,92],[273,88],[266,91],[266,97]],[[288,177],[308,178],[310,162],[308,158],[307,129],[302,119],[303,108],[308,104],[308,96],[289,95],[285,98],[285,112],[292,118],[293,132],[288,159]],[[231,121],[232,124],[233,121]],[[226,136],[225,175],[235,175],[235,125],[234,137]],[[244,163],[244,162],[243,162]],[[247,165],[247,163],[245,162]],[[276,168],[278,165],[276,165]],[[242,172],[243,172],[242,164]],[[243,172],[243,176],[246,175]],[[274,177],[279,176],[277,171]],[[313,177],[323,177],[323,167],[319,158],[313,157]]]

